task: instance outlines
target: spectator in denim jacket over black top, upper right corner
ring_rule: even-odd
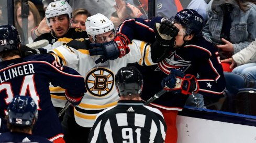
[[[256,38],[256,2],[252,0],[212,0],[207,6],[208,21],[203,34],[219,43],[220,59],[230,58]],[[222,63],[224,71],[230,65]]]

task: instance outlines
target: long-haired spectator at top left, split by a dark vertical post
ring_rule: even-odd
[[[29,15],[28,15],[28,42],[33,42],[31,38],[30,31],[40,23],[41,17],[39,15],[39,11],[37,7],[30,1],[28,1],[29,4]],[[17,1],[15,8],[14,8],[14,14],[15,14],[15,27],[17,28],[18,32],[21,36],[24,36],[23,33],[23,26],[22,26],[22,18],[21,18],[21,2]]]

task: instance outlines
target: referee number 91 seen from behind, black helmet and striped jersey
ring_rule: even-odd
[[[162,113],[144,106],[142,75],[135,67],[124,67],[115,75],[120,96],[117,105],[100,112],[89,142],[164,142],[166,124]]]

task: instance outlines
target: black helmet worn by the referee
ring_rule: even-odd
[[[115,84],[120,95],[140,94],[142,90],[142,75],[135,67],[124,67],[118,70]]]

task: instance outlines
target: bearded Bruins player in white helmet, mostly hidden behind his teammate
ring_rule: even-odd
[[[70,28],[72,24],[71,19],[72,8],[68,2],[61,0],[50,3],[46,9],[46,22],[51,32],[38,34],[41,28],[35,29],[34,33],[40,35],[35,41],[48,40],[49,45],[46,49],[49,50],[64,45],[75,38],[88,37],[86,31],[79,28]],[[65,89],[50,84],[51,99],[57,112],[60,112],[65,106],[66,99],[65,94],[63,94],[64,91]],[[63,116],[60,118],[61,121],[62,118]]]

